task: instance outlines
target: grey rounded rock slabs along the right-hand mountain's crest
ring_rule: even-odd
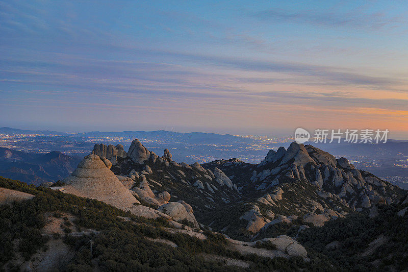
[[[308,181],[323,194],[330,193],[330,198],[335,197],[342,205],[357,211],[377,203],[390,204],[399,197],[393,185],[355,169],[346,158],[336,159],[312,145],[296,142],[286,151],[282,147],[276,153],[270,152],[249,179],[257,190],[265,190],[287,178]],[[265,197],[258,201],[268,203]]]

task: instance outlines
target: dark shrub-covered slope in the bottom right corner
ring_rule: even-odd
[[[378,205],[371,217],[350,214],[321,228],[306,229],[299,241],[323,253],[335,266],[354,271],[405,271],[408,268],[408,196]]]

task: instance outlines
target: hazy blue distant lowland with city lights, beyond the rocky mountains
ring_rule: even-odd
[[[288,142],[271,141],[266,138],[245,138],[230,134],[180,133],[172,131],[122,131],[122,132],[81,132],[68,134],[58,131],[20,130],[0,128],[2,146],[27,153],[48,153],[59,151],[71,156],[83,157],[93,150],[95,143],[122,144],[129,149],[131,141],[138,138],[151,151],[160,153],[168,148],[173,159],[186,163],[206,163],[218,159],[238,158],[244,162],[257,164],[268,150],[288,147]],[[363,170],[372,172],[408,189],[408,141],[388,140],[387,143],[314,143],[319,149],[333,154],[336,158],[346,157]],[[15,153],[16,154],[16,153]],[[28,156],[28,155],[25,155]]]

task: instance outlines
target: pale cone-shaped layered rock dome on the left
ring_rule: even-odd
[[[112,163],[97,155],[86,156],[70,176],[62,180],[63,192],[88,197],[126,210],[138,201],[109,169]],[[109,167],[109,168],[108,168]]]

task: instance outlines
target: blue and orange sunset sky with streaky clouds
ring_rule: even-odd
[[[406,1],[0,1],[0,126],[408,139]]]

